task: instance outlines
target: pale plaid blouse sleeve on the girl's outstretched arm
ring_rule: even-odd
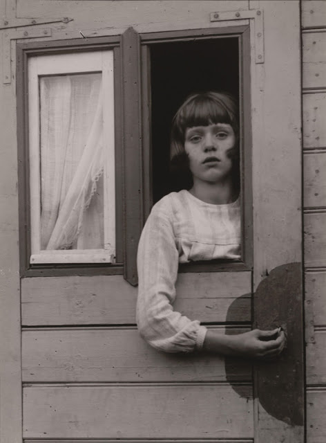
[[[178,276],[178,249],[166,204],[148,217],[137,253],[137,325],[150,345],[165,352],[200,350],[207,328],[173,311]]]

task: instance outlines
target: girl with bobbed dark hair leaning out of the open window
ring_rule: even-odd
[[[278,329],[223,336],[173,310],[179,263],[240,259],[238,142],[238,109],[228,94],[192,95],[175,114],[171,159],[189,190],[153,206],[137,255],[137,325],[157,350],[271,358],[285,345]]]

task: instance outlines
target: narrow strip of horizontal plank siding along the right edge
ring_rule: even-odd
[[[307,442],[326,441],[326,2],[302,1]]]

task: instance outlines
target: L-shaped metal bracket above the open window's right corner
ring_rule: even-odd
[[[211,12],[211,21],[251,19],[255,35],[255,61],[264,63],[264,19],[262,9]]]

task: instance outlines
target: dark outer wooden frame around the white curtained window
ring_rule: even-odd
[[[114,58],[114,109],[115,109],[115,243],[116,260],[111,263],[37,263],[30,264],[30,160],[28,120],[28,59],[35,55],[57,55],[80,52],[113,50]],[[115,275],[124,272],[123,263],[123,208],[124,188],[122,173],[122,82],[121,82],[121,36],[32,42],[17,44],[17,145],[19,177],[19,253],[21,276],[59,275]],[[120,196],[117,198],[117,196]]]

